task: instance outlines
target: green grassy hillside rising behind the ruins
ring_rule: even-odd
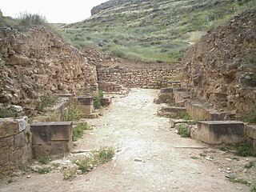
[[[179,62],[202,34],[256,4],[243,1],[114,1],[111,8],[64,31],[75,46],[98,45],[103,51],[142,62]]]

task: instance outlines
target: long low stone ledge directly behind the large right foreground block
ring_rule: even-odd
[[[206,102],[186,99],[185,108],[187,113],[196,121],[223,121],[228,113],[215,110],[213,106]]]

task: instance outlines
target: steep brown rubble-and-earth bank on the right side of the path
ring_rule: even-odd
[[[242,113],[256,103],[256,14],[234,17],[183,58],[183,84],[194,98]]]

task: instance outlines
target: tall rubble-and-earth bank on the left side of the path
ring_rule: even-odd
[[[97,90],[96,68],[85,56],[38,26],[26,34],[0,30],[0,103],[34,110],[40,94]]]

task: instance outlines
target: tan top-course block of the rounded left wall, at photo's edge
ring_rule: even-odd
[[[0,118],[0,138],[18,134],[18,122],[14,118]]]

